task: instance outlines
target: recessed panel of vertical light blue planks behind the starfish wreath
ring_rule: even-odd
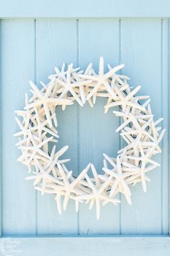
[[[79,21],[79,25],[76,20],[72,19],[40,19],[37,20],[37,25],[33,20],[2,20],[1,120],[3,122],[1,122],[1,129],[3,152],[1,159],[3,159],[4,234],[35,234],[35,218],[37,218],[37,234],[77,232],[80,234],[113,234],[120,231],[122,234],[168,233],[167,135],[162,144],[162,158],[161,156],[156,158],[162,168],[159,170],[157,168],[150,175],[152,182],[148,184],[147,194],[144,194],[141,187],[137,186],[133,189],[132,207],[128,207],[124,200],[121,208],[105,206],[102,209],[100,221],[96,221],[95,210],[90,218],[87,218],[90,214],[89,210],[86,206],[82,206],[78,226],[73,203],[69,205],[63,216],[58,216],[55,201],[48,195],[37,196],[36,213],[32,182],[24,181],[24,176],[27,175],[24,172],[24,166],[16,163],[19,150],[14,147],[16,140],[12,137],[12,134],[17,131],[13,111],[24,106],[24,93],[29,90],[27,80],[36,78],[37,81],[47,81],[46,77],[53,72],[53,67],[55,65],[61,67],[63,61],[67,63],[72,61],[76,64],[78,59],[83,68],[89,61],[93,61],[94,67],[98,69],[99,56],[103,55],[106,62],[118,64],[120,41],[121,62],[126,64],[125,72],[132,77],[132,85],[141,84],[142,92],[151,95],[153,113],[156,117],[164,116],[163,126],[168,128],[167,44],[169,32],[167,20],[122,20],[121,24],[120,33],[119,21],[114,19],[84,19]],[[37,30],[36,38],[35,29]],[[77,38],[78,31],[79,38]],[[108,40],[108,35],[111,40]],[[79,39],[78,49],[77,39]],[[36,70],[35,50],[37,51]],[[12,94],[8,96],[11,91]],[[58,111],[58,131],[61,135],[59,147],[70,145],[68,151],[72,159],[70,167],[73,168],[75,174],[78,173],[78,167],[81,171],[89,161],[93,161],[97,167],[102,166],[103,151],[109,154],[112,150],[112,148],[107,148],[111,145],[110,135],[112,135],[112,142],[115,142],[114,154],[117,153],[119,139],[112,131],[115,131],[115,127],[118,126],[118,120],[111,117],[110,113],[104,116],[103,104],[104,102],[99,99],[92,111],[87,105],[79,108],[79,116],[77,116],[76,104],[66,108],[65,112]],[[79,118],[79,124],[77,118]],[[112,125],[109,127],[108,124]],[[79,131],[77,131],[78,125]],[[97,127],[100,129],[97,130]],[[107,140],[103,137],[101,140],[101,130],[107,132]],[[101,155],[101,160],[99,160],[99,155]],[[79,163],[77,163],[78,156],[80,157]],[[32,205],[31,210],[30,205]]]

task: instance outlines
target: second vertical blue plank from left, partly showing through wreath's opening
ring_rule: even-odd
[[[50,19],[36,22],[36,76],[37,82],[47,82],[54,67],[77,62],[76,20]],[[69,145],[65,158],[71,158],[68,167],[77,174],[77,116],[76,104],[61,111],[58,116],[57,149]],[[68,204],[66,212],[60,216],[52,195],[40,195],[37,192],[37,234],[70,234],[77,232],[77,214],[74,202]]]

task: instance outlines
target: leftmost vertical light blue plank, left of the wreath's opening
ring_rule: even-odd
[[[34,80],[34,20],[1,20],[1,132],[3,234],[35,234],[35,191],[17,163],[14,110],[24,106],[28,80]]]

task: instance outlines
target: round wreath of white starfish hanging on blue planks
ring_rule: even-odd
[[[122,67],[123,64],[114,68],[108,64],[109,70],[104,74],[102,57],[99,74],[96,74],[92,64],[85,71],[73,68],[73,64],[66,69],[63,64],[61,70],[55,68],[55,74],[50,75],[47,85],[41,82],[42,88],[30,82],[32,97],[29,99],[26,94],[23,110],[16,111],[20,130],[14,136],[19,137],[17,146],[22,151],[17,161],[24,163],[28,172],[32,173],[26,179],[34,181],[35,189],[42,195],[55,195],[60,214],[62,204],[63,210],[66,210],[70,199],[75,200],[76,211],[79,210],[79,202],[89,203],[90,209],[96,205],[97,219],[101,205],[120,203],[116,197],[119,193],[125,195],[131,204],[130,184],[134,186],[141,182],[146,192],[146,182],[150,181],[147,174],[159,166],[152,157],[161,153],[159,144],[165,129],[158,127],[158,124],[163,119],[153,120],[150,97],[136,95],[140,86],[130,88],[129,78],[117,74]],[[105,113],[109,108],[120,107],[119,111],[112,112],[122,119],[116,132],[120,132],[126,145],[117,152],[116,158],[103,154],[102,175],[97,174],[94,165],[89,163],[78,177],[74,177],[66,167],[69,159],[61,158],[68,146],[56,150],[58,121],[55,108],[61,105],[65,110],[74,101],[80,106],[88,102],[93,107],[97,97],[107,99]]]

